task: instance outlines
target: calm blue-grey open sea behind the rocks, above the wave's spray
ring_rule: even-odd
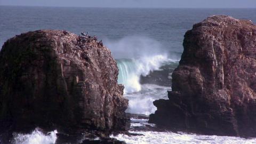
[[[185,32],[210,15],[225,14],[256,22],[256,9],[111,9],[83,7],[0,6],[0,45],[38,29],[88,31],[102,39],[146,36],[164,49],[182,52]],[[2,46],[1,46],[2,47]]]

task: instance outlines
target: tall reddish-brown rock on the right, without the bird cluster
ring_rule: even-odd
[[[213,16],[187,31],[169,100],[149,122],[173,130],[256,137],[256,26]]]

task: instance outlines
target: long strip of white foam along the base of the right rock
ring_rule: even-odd
[[[188,133],[172,133],[172,132],[153,132],[153,131],[129,131],[130,133],[139,133],[143,135],[129,136],[125,134],[118,134],[116,136],[110,135],[111,138],[116,138],[125,141],[127,144],[159,144],[159,143],[256,143],[256,139],[244,139],[239,137],[221,137],[216,135],[197,135]]]

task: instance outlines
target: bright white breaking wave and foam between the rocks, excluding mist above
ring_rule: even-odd
[[[129,99],[126,113],[145,114],[154,113],[156,107],[153,101],[159,98],[167,99],[167,90],[171,87],[155,84],[140,84],[140,76],[147,76],[150,71],[159,70],[163,63],[172,61],[166,55],[154,55],[139,59],[119,59],[118,83],[124,85],[124,97]],[[154,95],[150,97],[149,95]]]

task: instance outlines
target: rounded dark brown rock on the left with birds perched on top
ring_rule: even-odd
[[[116,61],[95,37],[60,30],[15,36],[0,52],[0,133],[125,130],[128,101],[117,75]]]

